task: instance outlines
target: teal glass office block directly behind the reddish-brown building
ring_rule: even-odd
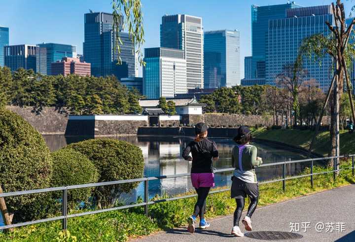
[[[36,72],[52,75],[51,63],[62,60],[63,57],[76,57],[76,46],[55,43],[38,44]]]

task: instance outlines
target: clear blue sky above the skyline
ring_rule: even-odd
[[[205,30],[239,30],[241,73],[251,52],[250,5],[283,4],[286,0],[142,0],[145,44],[159,46],[159,24],[164,14],[190,14],[203,18]],[[302,6],[330,4],[331,0],[295,0]],[[354,0],[343,0],[350,11]],[[84,13],[111,12],[111,0],[0,0],[0,26],[10,28],[10,44],[54,42],[77,46],[82,54]]]

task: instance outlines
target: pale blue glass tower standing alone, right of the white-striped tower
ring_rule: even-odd
[[[206,31],[204,36],[205,88],[240,85],[240,34],[237,30]]]

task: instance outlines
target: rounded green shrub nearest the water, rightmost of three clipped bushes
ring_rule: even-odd
[[[142,178],[144,161],[139,147],[114,139],[91,139],[73,143],[65,149],[73,149],[86,155],[99,171],[99,182]],[[102,186],[97,198],[103,204],[112,204],[118,193],[130,192],[137,182]]]

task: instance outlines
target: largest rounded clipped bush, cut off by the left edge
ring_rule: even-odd
[[[50,186],[52,159],[43,137],[19,115],[0,108],[0,185],[4,192]],[[43,217],[48,193],[7,197],[13,222]],[[45,204],[47,203],[47,205]]]

